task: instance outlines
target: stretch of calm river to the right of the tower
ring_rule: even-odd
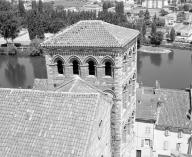
[[[169,54],[138,53],[138,81],[163,88],[184,89],[192,82],[192,52],[174,49]]]

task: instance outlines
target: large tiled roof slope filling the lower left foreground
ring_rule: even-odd
[[[0,89],[0,156],[84,156],[99,94]]]

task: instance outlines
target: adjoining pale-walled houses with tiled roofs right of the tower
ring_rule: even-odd
[[[189,90],[138,89],[135,127],[137,156],[188,153],[192,131],[192,122],[187,118],[190,99]]]

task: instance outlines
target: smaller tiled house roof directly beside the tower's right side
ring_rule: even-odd
[[[138,88],[136,96],[136,120],[155,121],[157,96],[153,94],[152,90],[146,90],[146,88]]]

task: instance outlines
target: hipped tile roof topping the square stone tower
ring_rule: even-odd
[[[84,20],[45,40],[43,47],[123,47],[139,31],[101,20]]]

